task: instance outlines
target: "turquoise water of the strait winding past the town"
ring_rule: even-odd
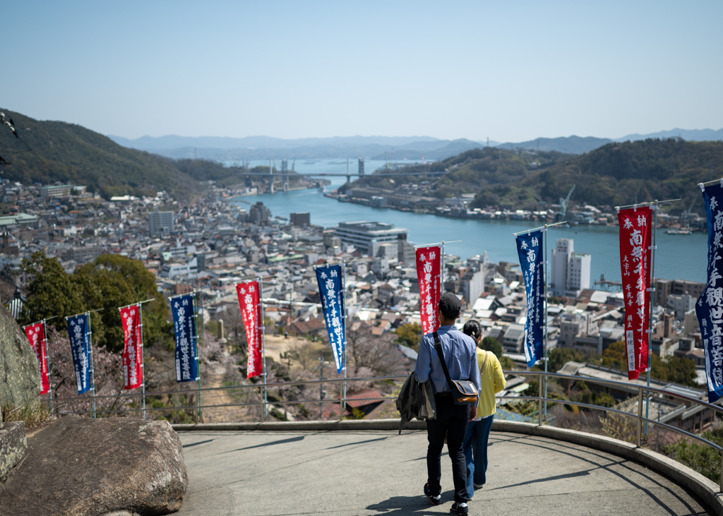
[[[331,161],[338,163],[341,160]],[[268,165],[268,162],[266,164]],[[365,168],[367,173],[371,173],[383,164],[380,161],[367,161]],[[276,166],[280,168],[278,163]],[[291,168],[291,163],[289,163],[289,168]],[[356,170],[356,160],[351,163],[351,169]],[[328,160],[324,160],[313,165],[304,165],[297,161],[296,171],[301,173],[346,173],[346,163],[343,165],[329,164]],[[332,185],[328,186],[328,189],[335,189],[336,186],[340,186],[346,181],[346,178],[342,177],[329,179],[332,181]],[[291,212],[310,212],[312,224],[326,227],[353,220],[391,223],[398,228],[406,228],[408,239],[415,245],[442,240],[461,240],[459,243],[445,246],[445,251],[462,258],[487,251],[489,259],[493,262],[518,263],[515,237],[512,233],[533,228],[538,224],[525,220],[460,220],[399,212],[388,208],[372,208],[329,199],[317,189],[277,192],[242,197],[241,199],[248,202],[262,201],[269,207],[273,215],[281,215],[286,218]],[[241,203],[241,205],[248,207],[245,203]],[[656,237],[656,278],[706,280],[706,234],[668,235],[664,233],[664,230],[659,229]],[[599,280],[601,274],[604,274],[607,280],[620,281],[617,226],[578,225],[572,228],[550,228],[548,254],[555,245],[555,238],[573,238],[576,252],[592,255],[591,282]]]

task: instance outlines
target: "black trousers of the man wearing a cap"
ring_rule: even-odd
[[[454,500],[467,501],[467,465],[464,460],[462,443],[469,423],[469,405],[455,405],[451,396],[435,395],[437,415],[427,419],[427,482],[432,494],[440,494],[442,486],[442,465],[440,457],[447,435],[447,450],[452,459],[452,478],[454,481]]]

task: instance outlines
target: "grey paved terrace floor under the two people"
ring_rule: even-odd
[[[426,431],[179,432],[189,471],[181,516],[449,514],[422,494]],[[615,455],[522,434],[490,436],[471,515],[706,515],[696,496]]]

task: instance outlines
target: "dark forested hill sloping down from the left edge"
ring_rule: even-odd
[[[122,147],[103,134],[77,124],[38,121],[15,111],[1,108],[0,111],[6,119],[14,121],[20,139],[35,151],[27,150],[7,127],[0,126],[0,156],[12,162],[12,165],[2,165],[0,177],[3,179],[23,184],[55,181],[80,184],[106,199],[161,190],[176,199],[188,199],[199,191],[199,181],[221,181],[222,184],[243,181],[243,171],[239,168],[223,167],[208,160],[171,160]]]

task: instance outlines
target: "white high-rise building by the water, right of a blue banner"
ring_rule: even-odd
[[[577,297],[590,288],[590,262],[590,254],[576,254],[572,238],[558,238],[550,257],[552,295]]]

